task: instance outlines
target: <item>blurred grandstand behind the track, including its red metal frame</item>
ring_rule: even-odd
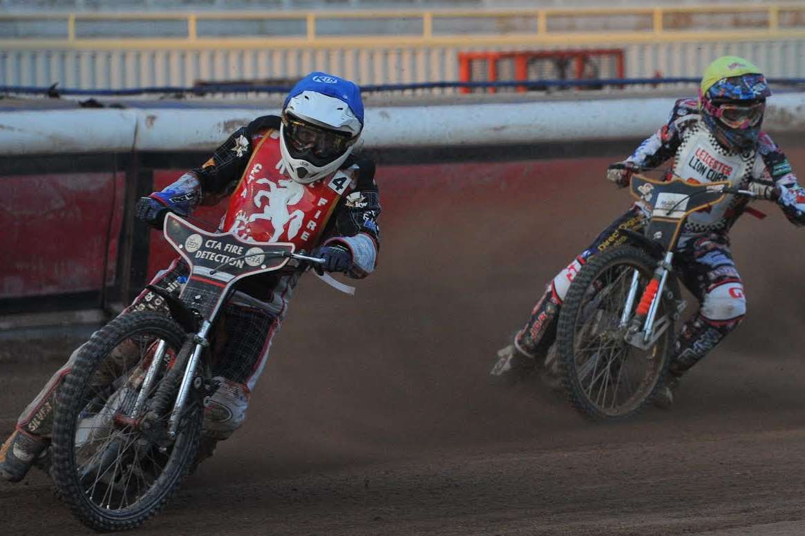
[[[649,79],[723,54],[805,77],[805,2],[567,3],[0,0],[0,86],[287,85],[315,69],[361,85]]]

